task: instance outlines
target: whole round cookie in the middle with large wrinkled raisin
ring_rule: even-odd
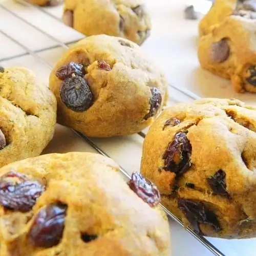
[[[141,48],[108,35],[75,44],[53,69],[50,88],[58,122],[90,137],[140,132],[168,97],[164,75]]]

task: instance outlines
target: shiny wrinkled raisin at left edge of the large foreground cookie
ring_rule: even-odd
[[[30,211],[44,191],[45,186],[38,181],[9,172],[0,179],[0,204],[11,210]]]

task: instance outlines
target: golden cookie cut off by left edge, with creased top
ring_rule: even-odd
[[[25,68],[0,68],[0,166],[40,155],[53,137],[56,99]]]

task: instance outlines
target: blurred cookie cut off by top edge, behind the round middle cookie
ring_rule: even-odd
[[[141,45],[151,19],[141,0],[66,0],[63,22],[84,35],[119,36]]]

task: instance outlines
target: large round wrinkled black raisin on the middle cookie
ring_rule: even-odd
[[[93,94],[86,80],[80,76],[67,78],[62,82],[60,98],[71,110],[83,112],[93,104]]]

